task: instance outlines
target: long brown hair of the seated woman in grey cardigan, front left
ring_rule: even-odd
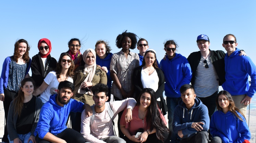
[[[21,81],[21,87],[18,92],[18,96],[13,100],[14,114],[18,114],[18,116],[21,116],[21,111],[23,108],[23,101],[24,101],[24,92],[22,92],[21,88],[23,88],[26,82],[32,82],[33,86],[35,87],[35,81],[32,78],[24,78]]]

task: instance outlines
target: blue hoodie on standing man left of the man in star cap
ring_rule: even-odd
[[[164,95],[171,98],[181,97],[180,88],[184,84],[190,84],[192,71],[187,59],[181,54],[175,53],[171,60],[161,60],[160,68],[163,71],[165,84]]]

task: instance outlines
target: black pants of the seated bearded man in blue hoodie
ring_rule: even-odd
[[[54,135],[55,137],[65,140],[67,143],[85,143],[83,135],[71,128],[66,128],[61,133]],[[47,140],[40,139],[38,135],[36,136],[37,143],[50,143]]]

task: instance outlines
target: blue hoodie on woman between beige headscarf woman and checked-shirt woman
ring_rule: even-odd
[[[111,62],[111,58],[112,58],[112,53],[106,53],[107,56],[104,59],[100,59],[98,55],[96,55],[96,64],[102,66],[106,66],[108,69],[108,73],[106,73],[107,75],[107,85],[108,88],[112,87],[112,78],[110,76],[110,62]]]

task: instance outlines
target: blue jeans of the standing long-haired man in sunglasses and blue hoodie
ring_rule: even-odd
[[[178,105],[178,102],[181,100],[181,98],[171,98],[171,97],[166,97],[166,105],[168,108],[168,126],[169,130],[171,131],[171,142],[170,143],[175,143],[179,142],[181,139],[178,136],[178,134],[174,133],[172,130],[172,122],[173,122],[173,114],[174,114],[174,109]]]

